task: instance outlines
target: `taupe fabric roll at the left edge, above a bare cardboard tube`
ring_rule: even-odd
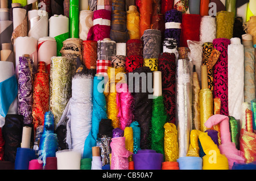
[[[3,43],[10,43],[11,36],[13,35],[13,21],[0,21],[0,49],[2,50]],[[11,46],[13,50],[13,46]]]

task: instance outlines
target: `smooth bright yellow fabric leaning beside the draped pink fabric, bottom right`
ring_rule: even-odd
[[[220,153],[220,149],[207,133],[199,135],[201,146],[204,150],[203,170],[229,170],[228,158]]]

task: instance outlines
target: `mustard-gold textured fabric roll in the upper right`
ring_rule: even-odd
[[[233,37],[234,13],[220,11],[216,14],[216,39]]]

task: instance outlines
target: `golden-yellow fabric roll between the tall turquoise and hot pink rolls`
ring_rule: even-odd
[[[112,68],[108,67],[108,83],[106,83],[104,95],[106,98],[106,105],[107,105],[107,115],[108,119],[112,120],[112,127],[113,128],[119,128],[120,127],[120,121],[117,109],[117,90],[115,89],[115,86],[118,82],[122,81],[122,74],[125,73],[125,68]]]

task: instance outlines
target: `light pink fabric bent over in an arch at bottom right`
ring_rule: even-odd
[[[232,169],[234,162],[245,163],[244,153],[236,149],[234,142],[231,142],[231,136],[229,131],[229,117],[225,115],[213,115],[205,122],[205,127],[212,128],[213,125],[220,123],[221,132],[221,145],[219,149],[221,154],[224,154],[228,158],[229,169]]]

